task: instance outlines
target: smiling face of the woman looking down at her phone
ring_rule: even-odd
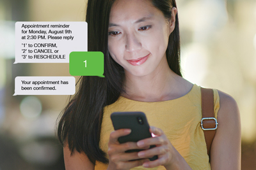
[[[116,0],[109,15],[108,50],[125,74],[145,76],[166,65],[173,29],[148,0]]]

